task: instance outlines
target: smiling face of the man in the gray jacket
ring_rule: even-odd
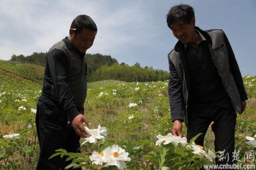
[[[170,26],[173,35],[183,44],[188,44],[193,41],[195,35],[194,27],[195,18],[191,20],[191,24],[186,23],[183,20],[177,20]]]

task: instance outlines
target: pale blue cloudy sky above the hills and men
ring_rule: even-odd
[[[194,7],[197,26],[225,31],[242,75],[256,75],[256,0],[0,0],[0,59],[48,51],[87,14],[98,27],[88,53],[168,70],[177,40],[166,14],[181,3]]]

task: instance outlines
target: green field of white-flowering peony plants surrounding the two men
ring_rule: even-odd
[[[0,61],[0,170],[36,167],[40,150],[35,109],[42,76],[40,66]],[[236,164],[256,164],[256,76],[243,76],[243,81],[249,100],[246,111],[237,116]],[[88,83],[84,106],[85,116],[92,123],[88,128],[98,131],[91,131],[90,139],[81,139],[81,154],[58,150],[55,156],[74,160],[70,167],[195,170],[202,164],[214,164],[214,134],[210,127],[203,148],[168,134],[173,125],[168,81]]]

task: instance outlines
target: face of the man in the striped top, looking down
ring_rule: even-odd
[[[80,33],[74,34],[72,29],[69,30],[69,40],[79,52],[86,52],[93,44],[96,36],[96,31],[83,29]]]

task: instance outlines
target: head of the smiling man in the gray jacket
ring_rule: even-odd
[[[171,7],[167,16],[167,25],[173,35],[183,44],[196,41],[194,9],[186,4]]]

